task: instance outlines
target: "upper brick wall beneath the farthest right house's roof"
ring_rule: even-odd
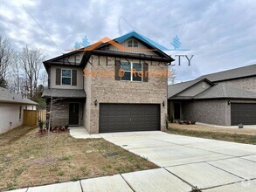
[[[243,78],[243,79],[233,79],[233,80],[226,80],[222,82],[216,82],[216,84],[225,84],[228,86],[236,86],[241,89],[245,89],[250,92],[256,92],[256,77],[250,78]]]

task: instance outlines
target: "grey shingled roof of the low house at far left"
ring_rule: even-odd
[[[0,87],[0,103],[16,103],[16,104],[28,104],[38,105],[38,103],[31,99],[24,98],[22,95],[12,93],[10,90]]]

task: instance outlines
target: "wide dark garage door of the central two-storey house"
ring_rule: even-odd
[[[160,105],[100,104],[100,133],[160,129]]]

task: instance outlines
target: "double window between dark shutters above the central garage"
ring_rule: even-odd
[[[121,61],[121,70],[124,72],[121,80],[142,81],[142,64]]]

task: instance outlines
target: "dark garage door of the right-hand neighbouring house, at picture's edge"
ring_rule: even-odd
[[[231,118],[232,126],[237,126],[239,123],[256,125],[256,104],[232,103]]]

